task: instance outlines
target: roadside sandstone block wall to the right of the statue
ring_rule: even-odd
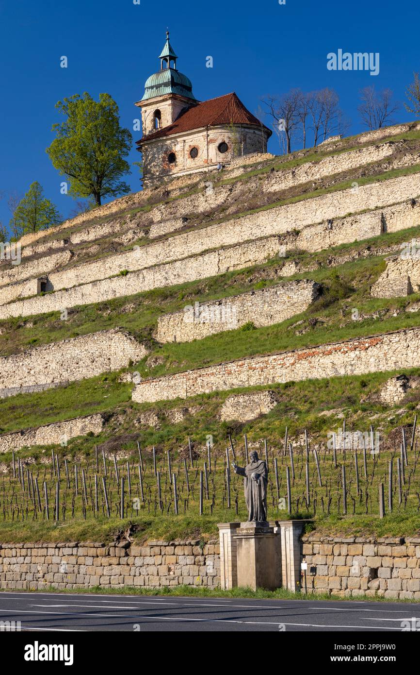
[[[420,599],[420,538],[303,535],[308,593]],[[305,589],[303,585],[303,590]]]

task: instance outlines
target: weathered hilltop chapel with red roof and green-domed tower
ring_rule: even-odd
[[[144,186],[165,178],[227,166],[235,157],[266,153],[272,132],[232,92],[198,101],[191,81],[177,69],[177,55],[167,40],[159,56],[160,70],[151,75],[142,109]]]

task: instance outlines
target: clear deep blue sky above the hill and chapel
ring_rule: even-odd
[[[117,101],[121,124],[133,133],[133,106],[146,78],[159,67],[167,27],[179,56],[178,66],[200,100],[236,91],[253,113],[264,94],[291,87],[313,90],[331,86],[353,124],[363,131],[357,113],[358,92],[375,84],[404,101],[413,70],[420,70],[415,0],[0,0],[0,220],[9,221],[7,194],[24,194],[38,180],[63,217],[73,210],[60,194],[62,178],[45,148],[59,121],[55,103],[88,91],[97,98],[109,92]],[[327,70],[327,54],[343,51],[380,53],[380,73]],[[60,68],[67,56],[68,68]],[[206,57],[213,68],[206,68]],[[409,121],[403,108],[396,121]],[[268,149],[279,152],[272,138]],[[135,149],[130,163],[140,159]],[[140,189],[138,169],[127,177]]]

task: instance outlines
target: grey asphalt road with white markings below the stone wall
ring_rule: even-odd
[[[400,631],[420,622],[412,603],[250,600],[148,595],[0,593],[0,620],[21,630]],[[417,624],[418,626],[419,624]]]

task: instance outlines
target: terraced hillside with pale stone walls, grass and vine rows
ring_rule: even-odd
[[[226,448],[267,452],[270,518],[416,531],[419,213],[409,124],[244,157],[22,238],[20,265],[0,264],[7,541],[129,522],[205,537],[245,515]]]

